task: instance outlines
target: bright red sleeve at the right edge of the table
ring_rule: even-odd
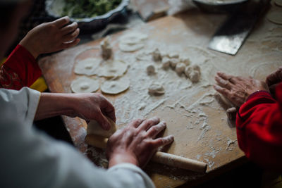
[[[255,92],[240,107],[236,118],[240,149],[265,168],[282,170],[282,84],[277,101],[268,92]]]

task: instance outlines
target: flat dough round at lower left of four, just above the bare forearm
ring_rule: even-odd
[[[74,93],[91,93],[96,92],[100,87],[99,80],[92,77],[78,77],[71,82],[71,90]]]

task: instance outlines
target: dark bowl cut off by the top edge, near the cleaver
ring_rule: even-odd
[[[232,13],[248,0],[192,0],[200,9],[208,13]]]

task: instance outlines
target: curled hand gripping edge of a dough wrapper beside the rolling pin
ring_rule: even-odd
[[[106,119],[108,116],[116,122],[114,106],[102,94],[73,94],[75,114],[85,120],[97,120],[104,130],[109,130],[111,124]]]

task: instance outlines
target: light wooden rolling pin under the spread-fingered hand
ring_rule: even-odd
[[[85,142],[91,146],[105,149],[108,139],[98,135],[88,134],[85,137]],[[154,154],[152,161],[172,167],[191,170],[197,173],[205,173],[207,170],[207,163],[192,160],[190,158],[176,156],[170,153],[164,153],[161,151],[157,151],[157,153]]]

